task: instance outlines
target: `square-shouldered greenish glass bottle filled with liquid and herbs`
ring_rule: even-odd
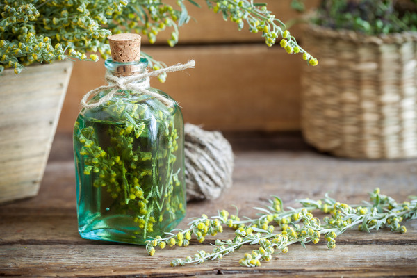
[[[108,58],[105,65],[110,74],[135,74],[147,60]],[[183,138],[179,106],[150,95],[119,90],[104,104],[83,108],[74,126],[79,234],[145,244],[176,227],[186,214]]]

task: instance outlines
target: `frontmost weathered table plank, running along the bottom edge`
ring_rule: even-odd
[[[121,276],[141,275],[142,277],[177,277],[213,275],[223,272],[238,275],[287,274],[316,272],[352,276],[373,275],[395,276],[407,270],[416,275],[416,247],[412,245],[391,245],[389,249],[377,245],[347,245],[336,250],[325,246],[291,246],[287,254],[275,254],[272,261],[259,268],[242,268],[238,260],[251,247],[224,256],[221,261],[207,261],[202,265],[181,268],[170,267],[175,257],[193,255],[201,247],[163,250],[151,257],[144,248],[131,245],[10,245],[0,249],[0,274],[25,276]],[[382,272],[384,271],[384,272]]]

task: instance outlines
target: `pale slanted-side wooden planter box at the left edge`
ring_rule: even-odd
[[[38,193],[72,63],[0,74],[0,203]]]

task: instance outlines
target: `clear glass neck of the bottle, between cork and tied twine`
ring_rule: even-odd
[[[148,61],[145,58],[140,58],[134,62],[115,62],[111,58],[106,59],[104,65],[108,73],[114,76],[133,76],[145,72]]]

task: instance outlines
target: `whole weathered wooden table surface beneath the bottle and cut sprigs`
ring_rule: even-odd
[[[357,204],[381,188],[398,202],[417,195],[417,160],[352,161],[318,154],[299,134],[234,134],[228,136],[235,154],[234,186],[211,202],[188,204],[188,217],[215,215],[218,209],[254,217],[270,195],[284,206],[294,199],[320,199],[327,192],[340,202]],[[0,205],[0,276],[60,277],[417,277],[417,220],[406,222],[406,234],[389,230],[370,234],[350,230],[336,238],[336,249],[324,240],[306,249],[294,244],[274,254],[259,268],[245,268],[241,250],[221,261],[172,268],[172,259],[211,252],[207,236],[201,244],[157,250],[148,256],[136,245],[81,238],[76,222],[76,190],[70,136],[57,135],[38,196]],[[187,220],[184,220],[183,226]],[[184,227],[184,226],[183,226]],[[229,229],[218,238],[233,237]]]

